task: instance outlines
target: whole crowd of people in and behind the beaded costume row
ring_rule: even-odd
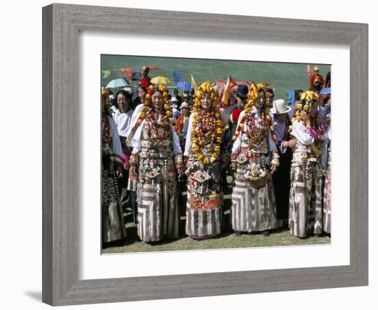
[[[331,76],[314,69],[290,103],[254,81],[226,103],[210,81],[181,95],[148,79],[134,92],[102,87],[103,244],[127,238],[126,208],[140,240],[179,238],[183,185],[194,240],[226,225],[236,236],[282,226],[298,238],[331,234],[331,94],[321,94]]]

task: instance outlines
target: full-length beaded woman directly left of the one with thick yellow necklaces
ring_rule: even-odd
[[[129,187],[137,193],[137,234],[144,242],[179,237],[177,173],[184,174],[179,137],[163,85],[151,85],[132,137]]]

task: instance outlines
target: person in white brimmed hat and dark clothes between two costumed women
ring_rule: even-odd
[[[280,154],[280,166],[273,175],[273,186],[276,192],[278,226],[281,227],[287,225],[289,216],[290,168],[293,158],[291,149],[296,145],[296,141],[289,137],[290,111],[291,107],[287,106],[283,99],[273,101],[273,107],[270,109]]]

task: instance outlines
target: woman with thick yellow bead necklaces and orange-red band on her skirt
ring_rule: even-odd
[[[201,240],[221,234],[221,171],[230,158],[223,146],[227,144],[224,138],[228,132],[216,105],[216,90],[209,82],[202,83],[190,114],[184,152],[188,158],[186,234],[192,239]]]

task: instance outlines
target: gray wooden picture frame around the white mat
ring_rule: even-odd
[[[349,45],[350,265],[78,280],[80,30]],[[43,8],[43,302],[89,304],[362,285],[368,285],[367,24],[66,4]]]

